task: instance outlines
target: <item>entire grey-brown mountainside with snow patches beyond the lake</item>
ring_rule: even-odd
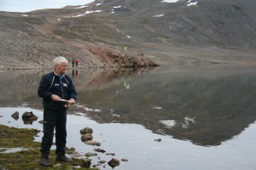
[[[26,14],[0,12],[0,65],[49,67],[57,55],[79,58],[81,67],[156,65],[155,55],[170,58],[173,48],[255,51],[256,1],[166,2],[172,1],[96,0]]]

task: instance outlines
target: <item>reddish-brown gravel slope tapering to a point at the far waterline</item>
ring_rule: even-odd
[[[158,65],[143,54],[122,52],[102,43],[3,29],[0,37],[0,69],[49,68],[56,56],[64,56],[70,63],[73,58],[79,59],[80,68]]]

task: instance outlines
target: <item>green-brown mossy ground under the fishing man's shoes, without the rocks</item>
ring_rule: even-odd
[[[75,169],[75,166],[79,165],[79,159],[73,159],[72,163],[55,161],[55,150],[50,150],[49,156],[49,159],[55,165],[54,167],[38,165],[40,143],[33,141],[33,136],[37,135],[37,133],[38,130],[35,129],[0,125],[0,169]],[[9,148],[24,148],[24,150],[3,153],[4,150]]]

